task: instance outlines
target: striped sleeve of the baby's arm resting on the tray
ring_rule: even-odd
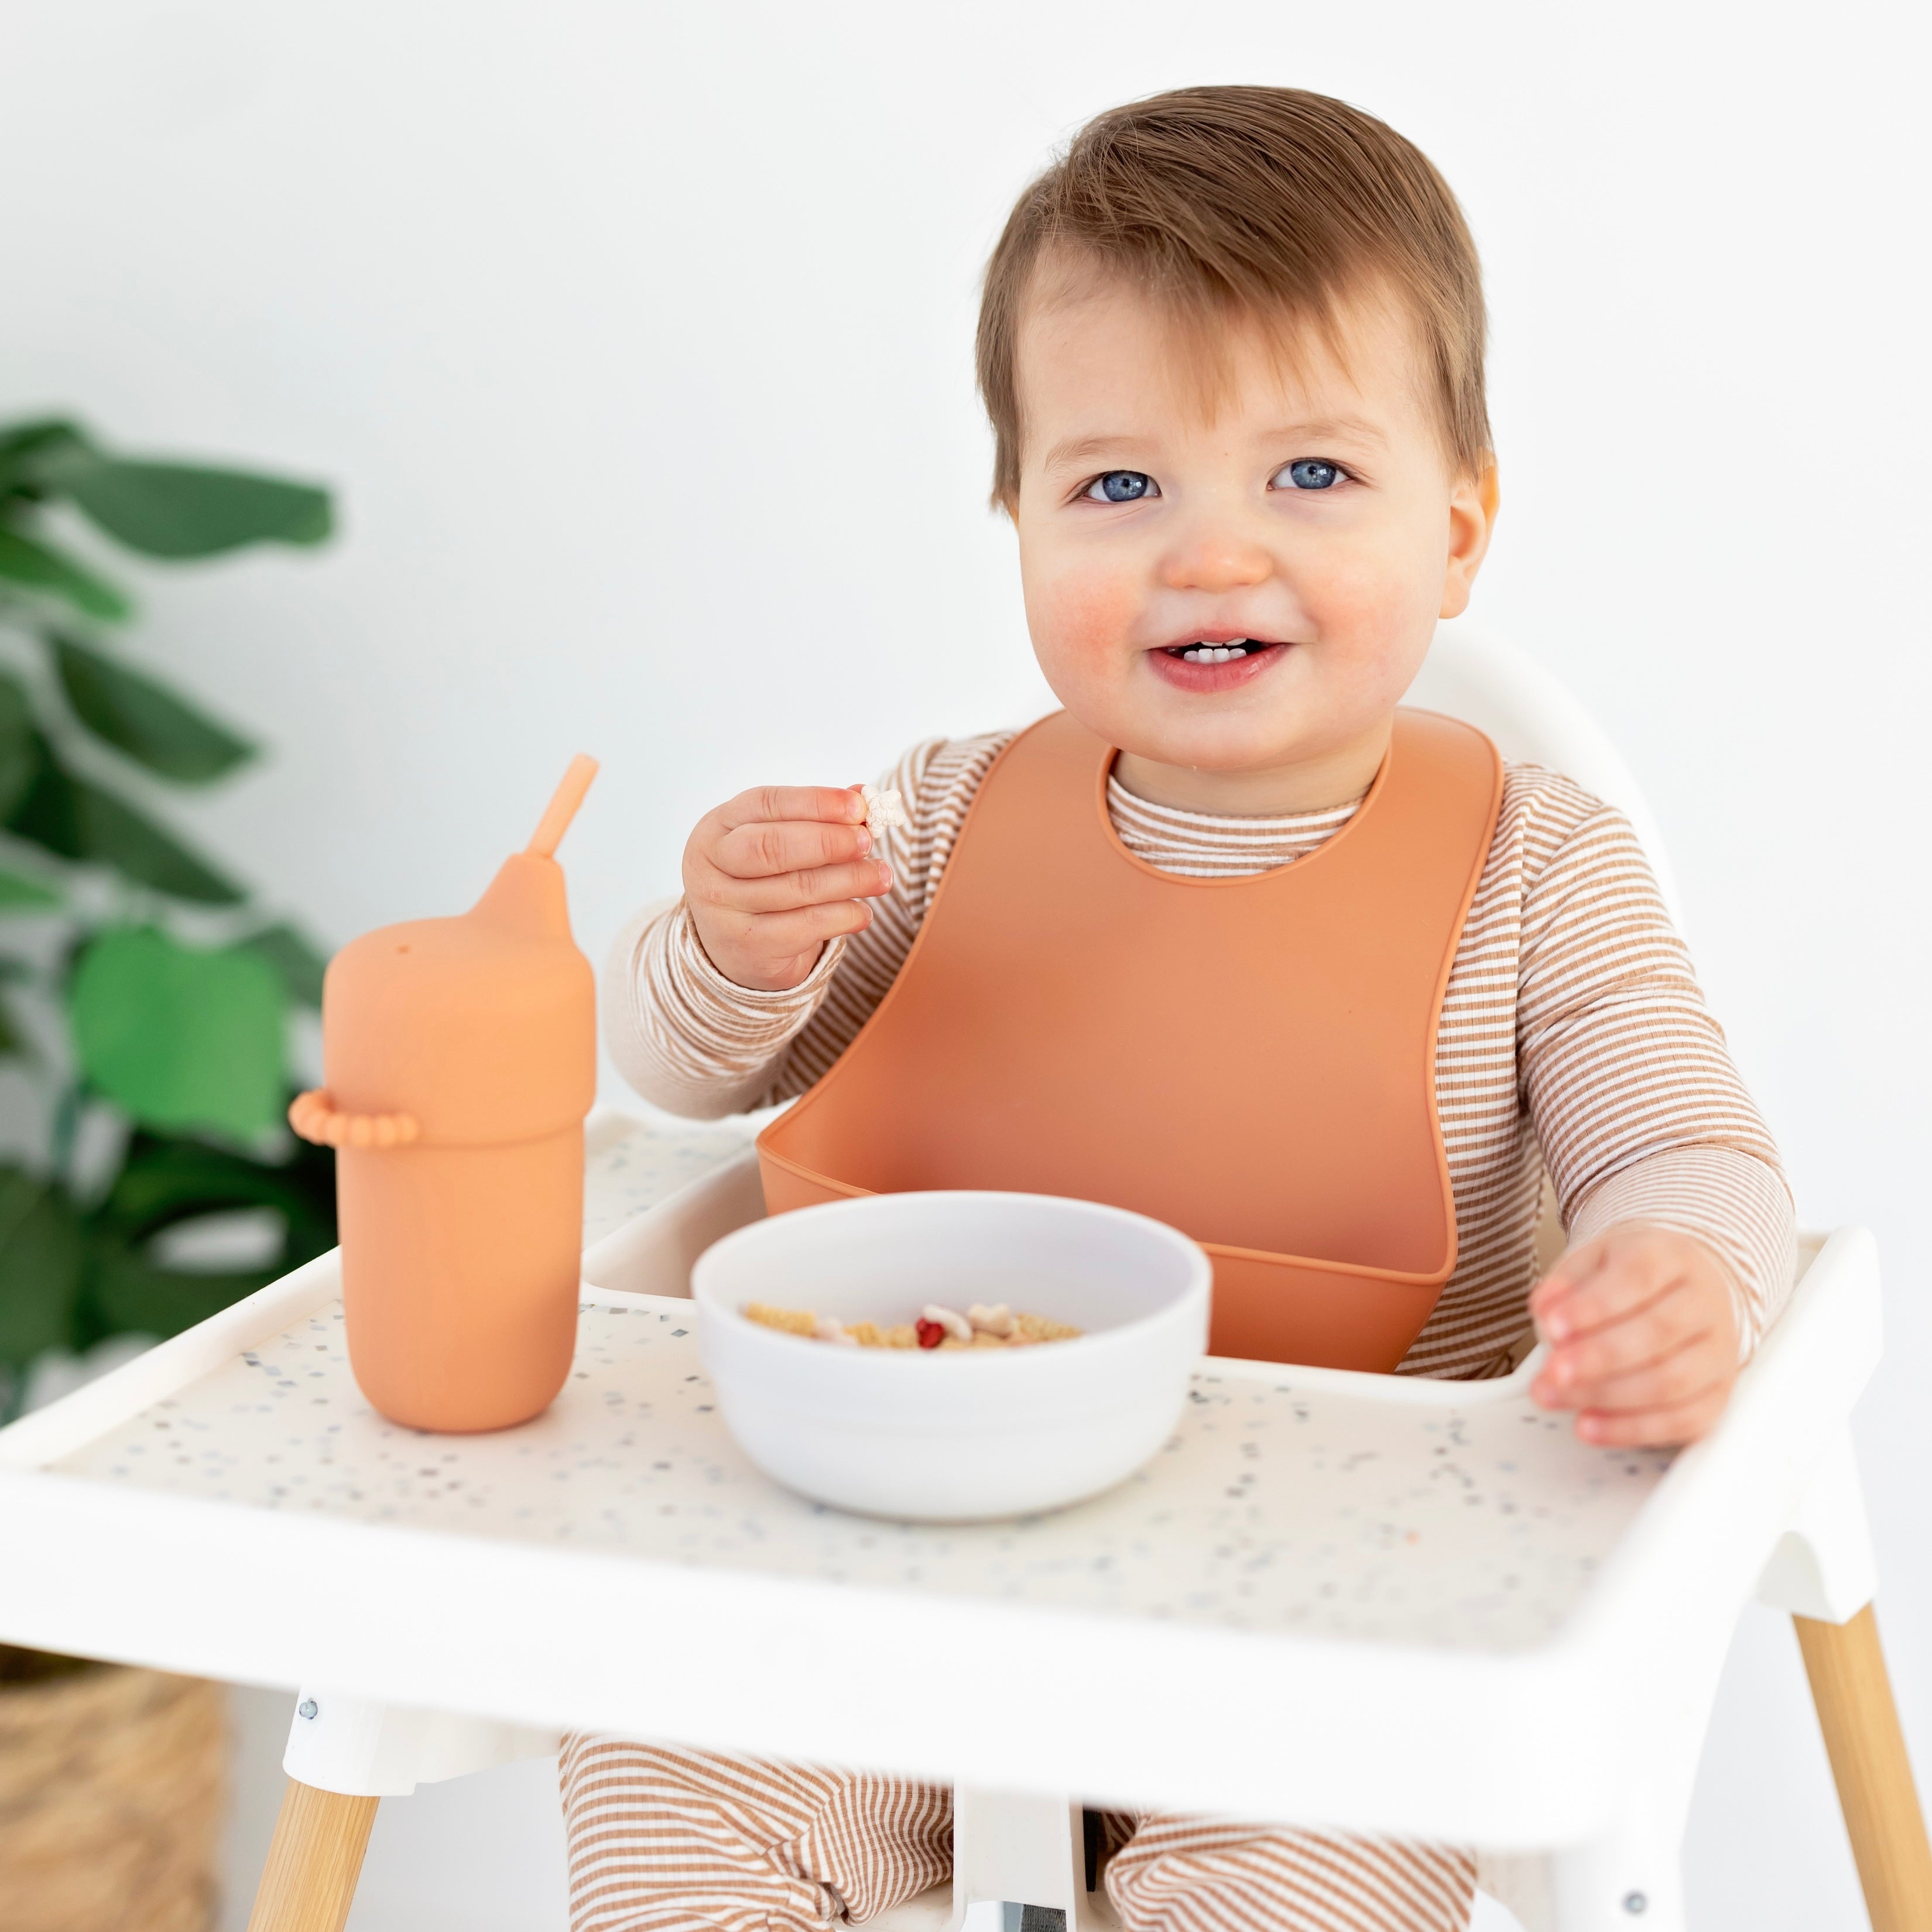
[[[1623,813],[1588,800],[1524,883],[1517,1055],[1571,1242],[1646,1221],[1706,1242],[1748,1354],[1791,1291],[1777,1148]]]

